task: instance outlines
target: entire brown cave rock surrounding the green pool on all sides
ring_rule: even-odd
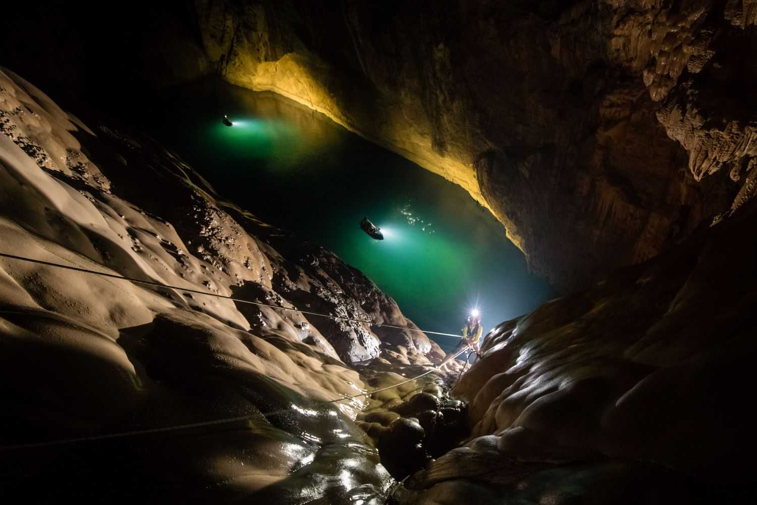
[[[586,289],[487,336],[453,389],[467,410],[444,372],[324,404],[441,353],[329,251],[3,73],[3,251],[273,305],[0,260],[2,444],[245,418],[4,448],[5,494],[381,503],[410,473],[400,503],[753,503],[755,2],[122,10],[40,8],[55,30],[0,33],[61,95],[217,71],[294,98],[459,183],[534,270]]]

